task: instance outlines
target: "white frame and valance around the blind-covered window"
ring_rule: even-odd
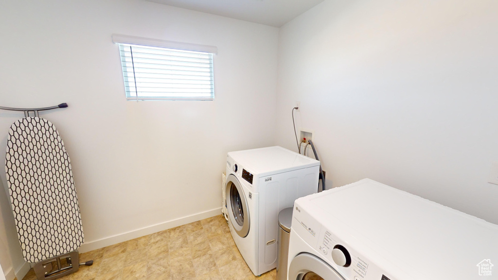
[[[208,46],[208,45],[199,45],[199,44],[191,44],[191,43],[184,43],[184,42],[175,42],[175,41],[167,41],[167,40],[159,40],[159,39],[150,39],[150,38],[143,38],[143,37],[135,37],[135,36],[127,36],[127,35],[121,35],[121,34],[113,34],[113,42],[117,43],[120,45],[120,57],[122,57],[122,70],[123,70],[123,76],[124,76],[124,86],[125,86],[125,92],[126,92],[126,100],[129,101],[144,101],[144,100],[214,100],[214,71],[213,71],[213,62],[211,60],[211,65],[210,65],[210,81],[212,85],[211,89],[211,96],[210,97],[196,97],[196,96],[139,96],[139,91],[137,92],[136,84],[135,84],[135,95],[131,95],[131,91],[126,90],[126,88],[130,88],[130,84],[128,84],[127,81],[127,74],[125,69],[129,68],[129,66],[126,66],[126,63],[129,65],[129,61],[126,62],[123,60],[123,56],[121,55],[121,50],[124,47],[130,47],[132,49],[133,47],[156,47],[156,48],[166,48],[166,49],[172,49],[172,50],[179,50],[179,51],[189,51],[189,52],[201,52],[201,53],[207,53],[210,54],[211,57],[214,56],[214,54],[218,53],[218,48],[215,46]],[[135,67],[133,66],[133,69]],[[134,70],[133,70],[134,71]],[[133,74],[134,77],[134,74]],[[133,78],[132,77],[132,78]],[[195,95],[194,93],[192,95]]]

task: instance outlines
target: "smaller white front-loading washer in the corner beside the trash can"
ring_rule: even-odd
[[[254,275],[276,267],[277,217],[294,200],[318,191],[320,161],[273,146],[229,152],[229,228]]]

